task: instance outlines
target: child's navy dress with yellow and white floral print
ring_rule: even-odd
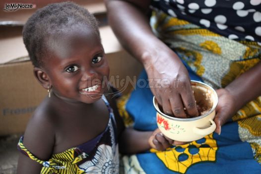
[[[110,119],[104,132],[97,137],[65,152],[54,154],[49,161],[39,160],[30,153],[23,144],[23,136],[19,140],[18,150],[43,165],[41,174],[118,174],[116,121],[105,96],[102,99],[108,107]]]

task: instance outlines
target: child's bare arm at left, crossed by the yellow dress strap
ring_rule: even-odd
[[[36,158],[48,161],[51,158],[55,134],[54,126],[48,116],[32,116],[25,134],[23,144]],[[42,165],[20,153],[17,174],[40,174]]]

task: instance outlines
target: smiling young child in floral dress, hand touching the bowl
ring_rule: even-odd
[[[72,2],[47,5],[28,19],[23,39],[48,96],[18,143],[18,174],[117,174],[118,142],[121,153],[172,145],[158,129],[125,128],[112,96],[103,95],[110,93],[109,66],[86,9]]]

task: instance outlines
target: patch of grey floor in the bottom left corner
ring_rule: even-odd
[[[16,174],[19,151],[17,143],[21,135],[0,137],[0,174]]]

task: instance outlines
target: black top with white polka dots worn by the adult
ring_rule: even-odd
[[[152,6],[229,39],[261,43],[261,0],[153,0]]]

